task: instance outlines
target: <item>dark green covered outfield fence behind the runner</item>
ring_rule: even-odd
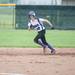
[[[17,5],[16,28],[27,28],[28,12],[30,10],[34,10],[38,17],[50,20],[56,29],[75,29],[75,6],[44,5]]]

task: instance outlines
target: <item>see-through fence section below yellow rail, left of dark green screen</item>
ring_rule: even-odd
[[[10,29],[15,25],[15,9],[0,8],[0,29]]]

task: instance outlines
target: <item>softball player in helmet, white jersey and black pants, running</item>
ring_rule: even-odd
[[[28,30],[34,28],[38,32],[37,36],[34,38],[34,42],[43,47],[44,53],[46,48],[49,48],[51,54],[55,54],[55,49],[51,45],[49,45],[46,41],[45,38],[46,29],[43,25],[43,22],[47,22],[50,25],[50,27],[53,27],[53,25],[50,23],[50,21],[46,19],[37,18],[34,11],[30,11],[28,17],[29,17]]]

